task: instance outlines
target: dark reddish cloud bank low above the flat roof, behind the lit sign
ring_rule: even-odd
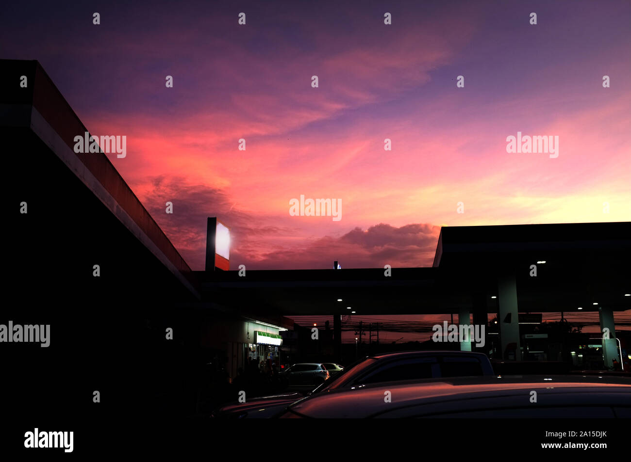
[[[355,228],[339,237],[288,240],[302,228],[283,226],[290,217],[261,217],[240,211],[218,188],[189,185],[183,178],[150,178],[143,204],[182,253],[192,269],[201,270],[206,249],[206,219],[219,217],[231,229],[231,265],[249,269],[325,269],[333,260],[346,268],[430,265],[440,228],[408,224],[396,228],[380,223],[365,231]],[[166,202],[173,202],[167,214]],[[270,221],[280,223],[269,226]],[[261,249],[271,251],[263,252]]]

